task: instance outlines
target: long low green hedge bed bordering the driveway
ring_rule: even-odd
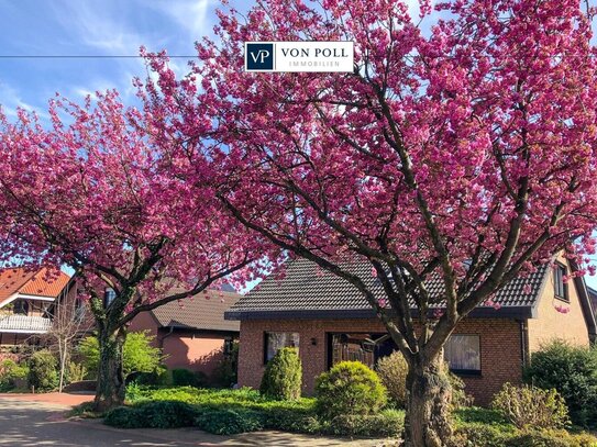
[[[209,433],[277,429],[338,436],[397,436],[405,413],[386,409],[368,416],[343,416],[322,421],[316,400],[276,401],[251,389],[210,390],[192,387],[151,389],[129,387],[128,405],[106,415],[104,423],[123,428],[196,426]]]

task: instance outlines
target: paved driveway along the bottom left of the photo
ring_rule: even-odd
[[[66,421],[68,406],[22,399],[0,398],[0,446],[308,446],[373,447],[375,440],[318,438],[278,432],[232,437],[198,429],[118,429],[100,421]]]

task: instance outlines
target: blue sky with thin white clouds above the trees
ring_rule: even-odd
[[[251,3],[230,0],[240,10]],[[409,3],[416,15],[417,0]],[[146,76],[140,46],[183,56],[170,66],[185,72],[194,43],[213,35],[218,7],[218,0],[0,0],[0,104],[9,118],[21,107],[44,119],[55,92],[80,101],[115,88],[132,102],[132,78]],[[597,278],[586,279],[597,288]]]

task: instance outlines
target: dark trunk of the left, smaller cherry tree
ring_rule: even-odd
[[[97,412],[106,412],[124,403],[122,346],[125,337],[123,328],[101,331],[98,334],[100,364],[98,388],[93,401],[93,407]]]

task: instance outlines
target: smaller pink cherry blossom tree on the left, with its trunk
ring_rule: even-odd
[[[143,111],[114,91],[97,96],[82,105],[57,97],[46,126],[23,110],[14,123],[0,118],[0,256],[77,271],[97,326],[103,411],[124,399],[132,319],[224,278],[252,279],[267,254],[201,182],[198,156],[191,185],[144,131]]]

